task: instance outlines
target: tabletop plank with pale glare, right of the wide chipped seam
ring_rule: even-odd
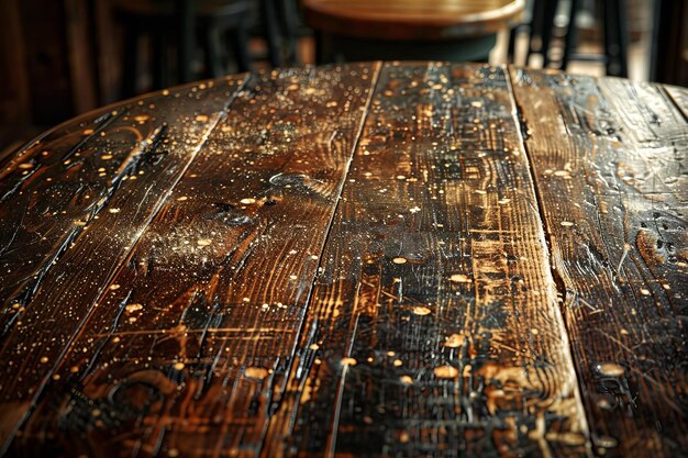
[[[686,121],[655,86],[511,76],[596,451],[685,456]]]

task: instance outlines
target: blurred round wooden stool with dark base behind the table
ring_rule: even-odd
[[[525,0],[303,0],[319,60],[481,59]]]

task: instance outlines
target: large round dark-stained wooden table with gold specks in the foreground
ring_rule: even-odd
[[[0,168],[10,457],[680,457],[688,91],[238,75]]]

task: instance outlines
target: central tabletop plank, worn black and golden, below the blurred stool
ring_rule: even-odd
[[[501,69],[386,65],[264,457],[584,456]]]

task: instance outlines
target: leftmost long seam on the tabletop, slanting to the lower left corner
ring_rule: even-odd
[[[181,181],[181,179],[184,178],[185,174],[187,172],[187,170],[189,169],[189,167],[191,166],[191,164],[193,163],[193,160],[198,156],[199,152],[203,148],[203,146],[208,142],[208,138],[210,137],[212,132],[214,132],[214,130],[218,126],[218,124],[220,123],[220,121],[223,120],[226,116],[226,112],[230,109],[231,104],[234,102],[234,100],[236,99],[237,94],[245,88],[246,83],[248,82],[248,80],[252,77],[253,77],[252,74],[247,74],[246,78],[242,81],[242,83],[237,88],[234,89],[234,92],[228,99],[226,103],[224,104],[224,107],[220,111],[219,115],[215,118],[215,121],[208,127],[208,130],[206,131],[206,133],[201,137],[200,142],[198,143],[197,147],[191,153],[191,157],[182,166],[182,169],[180,170],[178,178],[171,183],[171,186],[167,189],[167,191],[163,194],[163,197],[157,201],[157,204],[153,208],[153,211],[151,212],[151,215],[148,216],[148,219],[147,219],[147,221],[145,223],[144,228],[141,230],[136,234],[136,237],[135,237],[134,242],[131,244],[130,249],[125,252],[124,256],[122,256],[122,258],[121,258],[122,260],[119,262],[119,265],[114,269],[112,269],[112,272],[110,273],[110,276],[108,276],[108,279],[103,282],[102,291],[97,295],[96,300],[93,301],[93,304],[98,304],[100,302],[100,300],[103,298],[103,295],[108,291],[108,288],[107,288],[108,284],[110,284],[110,282],[114,278],[116,278],[119,272],[122,270],[122,266],[124,266],[126,264],[126,260],[129,259],[131,254],[134,252],[134,249],[138,245],[138,242],[141,241],[141,237],[143,236],[143,234],[146,232],[146,230],[151,225],[151,222],[157,216],[159,211],[163,209],[165,202],[171,196],[174,189],[177,187],[179,181]],[[31,403],[30,403],[29,409],[26,410],[24,415],[19,420],[19,422],[14,426],[14,428],[13,428],[12,433],[9,435],[7,442],[1,445],[1,447],[0,447],[0,457],[4,457],[5,454],[8,453],[12,442],[16,437],[16,433],[21,429],[21,427],[26,423],[29,417],[32,415],[33,410],[34,410],[34,407],[35,407],[35,405],[36,405],[36,403],[38,401],[38,398],[41,396],[41,394],[45,390],[45,387],[47,386],[47,383],[52,379],[55,370],[59,367],[59,365],[63,362],[63,360],[65,359],[67,354],[71,350],[73,344],[81,335],[86,324],[90,321],[90,319],[93,315],[96,310],[97,310],[96,306],[91,306],[90,311],[87,312],[86,316],[81,320],[80,324],[77,326],[76,331],[73,333],[71,337],[69,338],[69,340],[65,345],[64,349],[59,353],[57,358],[55,358],[55,364],[53,365],[53,367],[51,367],[51,369],[43,377],[43,380],[41,380],[41,383],[38,384],[38,388],[36,389],[35,393],[33,394],[33,396],[31,399]]]

